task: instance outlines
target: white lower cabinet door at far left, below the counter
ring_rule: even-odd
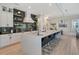
[[[8,35],[0,35],[0,48],[9,45],[9,36]]]

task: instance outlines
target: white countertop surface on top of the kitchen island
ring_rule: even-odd
[[[24,36],[29,36],[29,37],[45,37],[48,36],[50,34],[56,33],[60,30],[50,30],[50,31],[46,31],[46,32],[40,32],[39,35],[37,35],[38,31],[30,31],[30,32],[25,32],[23,33]]]

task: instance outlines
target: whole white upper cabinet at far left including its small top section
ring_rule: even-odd
[[[13,27],[13,10],[6,6],[0,6],[0,27]],[[3,8],[6,9],[3,11]]]

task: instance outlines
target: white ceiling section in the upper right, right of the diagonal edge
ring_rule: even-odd
[[[58,4],[65,15],[79,15],[79,3]]]

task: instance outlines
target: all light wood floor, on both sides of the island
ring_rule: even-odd
[[[21,44],[0,49],[0,55],[21,55]],[[79,40],[72,35],[63,35],[60,42],[51,52],[52,55],[77,55],[79,54]]]

